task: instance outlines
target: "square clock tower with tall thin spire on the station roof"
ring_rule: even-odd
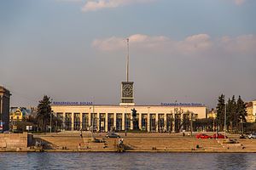
[[[126,82],[121,83],[120,105],[135,105],[133,82],[129,82],[129,38],[127,38]]]

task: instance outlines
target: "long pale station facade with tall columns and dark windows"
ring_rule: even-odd
[[[57,102],[55,102],[57,103]],[[204,105],[51,105],[66,131],[98,132],[142,130],[146,132],[189,131],[190,121],[206,118]],[[132,109],[137,111],[132,115]]]

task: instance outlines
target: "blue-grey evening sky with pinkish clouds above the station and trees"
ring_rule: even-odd
[[[126,38],[137,105],[256,99],[255,0],[3,0],[0,85],[11,106],[119,105]]]

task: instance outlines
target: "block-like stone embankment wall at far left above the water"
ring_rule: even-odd
[[[0,133],[0,149],[27,148],[32,135],[28,133]]]

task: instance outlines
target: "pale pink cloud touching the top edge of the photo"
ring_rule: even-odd
[[[156,0],[90,0],[84,4],[82,11],[96,11],[102,8],[117,8],[132,3],[150,3]]]

